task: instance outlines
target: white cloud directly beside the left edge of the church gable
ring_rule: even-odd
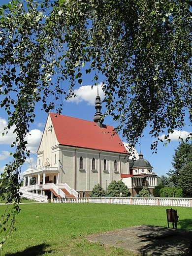
[[[42,131],[39,129],[32,129],[26,136],[26,140],[28,142],[27,149],[30,150],[31,153],[35,154],[37,152],[40,140],[42,136]]]

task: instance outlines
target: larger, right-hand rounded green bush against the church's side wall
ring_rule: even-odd
[[[122,192],[123,196],[130,196],[131,193],[128,187],[122,180],[115,181],[113,180],[107,187],[107,195],[111,196],[120,196],[120,192]]]

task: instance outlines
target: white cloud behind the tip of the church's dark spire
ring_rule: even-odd
[[[102,83],[98,84],[98,91],[101,100],[103,100],[104,92],[102,90]],[[69,102],[79,103],[85,100],[88,101],[88,105],[95,105],[95,99],[97,96],[97,86],[93,86],[93,89],[91,85],[81,86],[79,87],[79,89],[74,90],[74,94],[76,96],[68,99]]]

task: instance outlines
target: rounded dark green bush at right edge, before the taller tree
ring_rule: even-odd
[[[182,189],[184,196],[192,197],[192,161],[186,163],[180,171],[178,185]]]

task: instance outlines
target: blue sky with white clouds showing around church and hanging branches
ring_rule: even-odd
[[[1,0],[0,5],[3,3],[7,3],[8,0]],[[75,88],[75,94],[77,97],[73,98],[69,101],[64,101],[64,110],[62,114],[77,117],[89,121],[93,121],[95,114],[95,97],[97,94],[97,88],[91,89],[93,82],[91,81],[90,76],[84,76],[83,85],[77,85]],[[101,89],[102,77],[98,81],[99,84],[99,95],[101,99],[104,98],[102,89]],[[1,98],[0,98],[1,100]],[[35,108],[35,122],[31,125],[30,134],[27,136],[28,140],[28,149],[32,152],[31,158],[27,159],[26,163],[22,167],[22,171],[25,171],[28,168],[35,167],[36,165],[36,155],[35,152],[38,148],[40,138],[43,132],[43,128],[47,119],[47,113],[40,110],[41,107],[39,104]],[[105,112],[104,103],[102,105],[102,113]],[[8,120],[8,116],[4,109],[0,109],[0,134],[3,132],[4,127],[6,127]],[[111,125],[116,127],[117,124],[114,123],[112,117],[108,116],[104,119],[104,124]],[[12,130],[8,132],[5,136],[0,135],[0,172],[3,171],[4,166],[7,162],[12,160],[12,157],[9,156],[10,152],[12,152],[12,148],[10,144],[14,140],[14,135],[12,134]],[[161,175],[166,175],[170,168],[172,168],[171,161],[172,156],[174,155],[174,150],[178,147],[179,141],[178,137],[182,136],[185,138],[190,132],[192,132],[192,127],[188,119],[186,119],[186,126],[184,130],[175,131],[170,135],[171,143],[169,143],[166,147],[163,146],[163,143],[159,143],[158,146],[158,154],[152,154],[150,150],[151,143],[153,143],[153,138],[149,135],[149,128],[144,130],[144,137],[139,140],[139,144],[137,144],[136,150],[139,152],[140,149],[142,154],[144,155],[144,159],[147,159],[152,166],[154,166],[154,172]],[[121,134],[120,134],[121,137]]]

